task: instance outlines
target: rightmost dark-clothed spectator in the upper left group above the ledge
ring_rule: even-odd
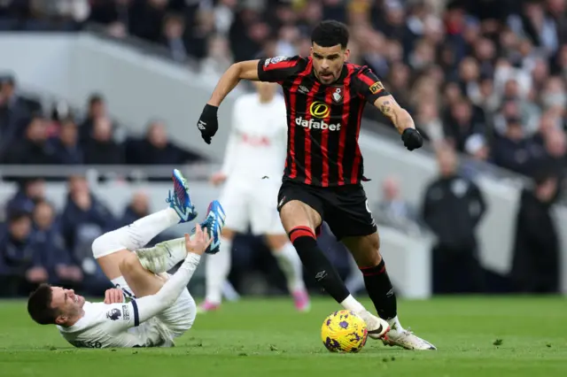
[[[127,142],[126,162],[132,165],[180,165],[198,159],[196,154],[170,142],[165,124],[158,120],[150,123],[143,140]]]

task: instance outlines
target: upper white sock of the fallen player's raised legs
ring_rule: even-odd
[[[126,227],[98,237],[92,242],[92,254],[95,258],[101,258],[120,250],[134,251],[143,248],[153,237],[178,222],[179,216],[171,208],[151,213]]]

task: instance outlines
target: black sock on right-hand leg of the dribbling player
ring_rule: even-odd
[[[386,272],[384,258],[374,267],[360,267],[369,297],[381,319],[392,319],[398,314],[392,281]]]

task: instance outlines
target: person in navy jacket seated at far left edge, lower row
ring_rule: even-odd
[[[0,296],[27,295],[49,278],[31,232],[32,221],[23,212],[13,212],[0,231]]]

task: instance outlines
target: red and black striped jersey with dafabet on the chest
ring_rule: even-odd
[[[358,184],[363,164],[358,137],[362,111],[388,93],[367,66],[346,63],[334,83],[317,81],[311,58],[265,58],[260,81],[277,82],[287,107],[284,177],[308,185]]]

